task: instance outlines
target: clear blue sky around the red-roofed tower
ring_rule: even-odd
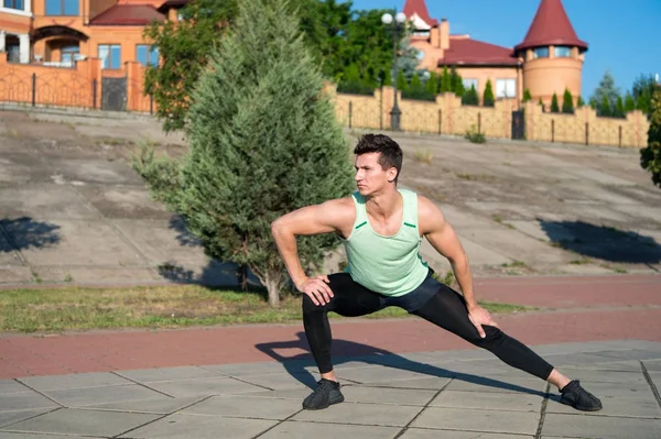
[[[404,0],[354,0],[354,9],[401,10]],[[513,47],[525,37],[540,0],[426,0],[447,18],[449,33]],[[587,42],[582,95],[587,100],[608,69],[624,94],[641,74],[661,77],[661,0],[563,0],[578,39]]]

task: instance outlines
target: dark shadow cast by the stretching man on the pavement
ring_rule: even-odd
[[[310,353],[310,345],[305,338],[305,332],[297,332],[299,340],[271,342],[271,343],[258,343],[254,347],[261,352],[270,355],[272,359],[279,361],[290,375],[296,378],[300,383],[306,385],[310,388],[316,387],[316,380],[314,375],[305,370],[307,366],[315,366],[315,362]],[[301,353],[294,356],[283,356],[275,352],[278,349],[303,349],[306,353]],[[457,371],[451,371],[447,369],[438,367],[432,364],[424,364],[416,361],[409,360],[400,356],[397,353],[375,348],[369,344],[356,343],[347,340],[333,340],[333,364],[340,365],[347,362],[361,361],[366,364],[371,365],[383,365],[393,369],[400,369],[402,371],[410,371],[416,373],[423,373],[434,377],[441,378],[455,378],[465,381],[467,383],[479,384],[496,388],[516,391],[527,393],[530,395],[538,395],[546,397],[544,392],[535,391],[533,388],[523,387],[517,384],[506,383],[499,380],[492,380],[485,376],[474,375],[469,373],[463,373]],[[338,372],[342,375],[342,373]],[[531,375],[531,377],[533,377]]]

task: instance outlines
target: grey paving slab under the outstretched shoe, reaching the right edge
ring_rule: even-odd
[[[560,403],[559,396],[553,396],[546,404],[546,413],[582,414],[584,416],[620,416],[639,418],[660,418],[661,408],[654,397],[599,397],[603,409],[599,411],[576,411],[574,408]]]

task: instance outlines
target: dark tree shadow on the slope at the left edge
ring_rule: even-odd
[[[53,246],[61,241],[57,229],[57,224],[30,217],[0,219],[0,253]]]

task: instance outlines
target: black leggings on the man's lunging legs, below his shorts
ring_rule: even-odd
[[[303,295],[305,334],[321,373],[333,371],[330,360],[333,338],[328,325],[328,311],[335,311],[345,317],[358,317],[376,312],[389,306],[384,300],[384,296],[357,284],[347,273],[332,274],[328,279],[334,294],[328,304],[314,305],[307,295]],[[436,282],[436,294],[411,314],[459,336],[469,343],[492,352],[512,367],[520,369],[544,381],[549,377],[553,366],[530,348],[507,336],[500,329],[483,325],[486,338],[479,337],[477,329],[468,319],[468,309],[464,296],[440,282]]]

